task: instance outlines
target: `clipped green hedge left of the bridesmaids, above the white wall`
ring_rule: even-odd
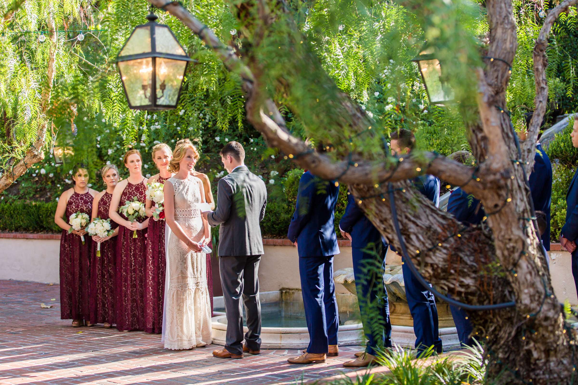
[[[57,202],[16,200],[0,204],[0,231],[59,233],[54,223]]]

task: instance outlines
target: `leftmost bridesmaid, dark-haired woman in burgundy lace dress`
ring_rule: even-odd
[[[58,199],[54,222],[62,228],[60,238],[60,319],[72,319],[72,326],[89,323],[88,296],[90,289],[91,239],[84,229],[68,230],[69,218],[80,211],[90,217],[92,201],[97,191],[88,188],[88,170],[79,163],[72,170],[74,187]],[[66,219],[63,219],[65,216]],[[84,245],[80,236],[84,236]]]

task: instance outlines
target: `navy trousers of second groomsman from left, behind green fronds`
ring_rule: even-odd
[[[381,252],[364,252],[362,248],[351,249],[357,301],[367,338],[365,352],[373,356],[380,349],[391,347],[390,306],[387,301],[386,285],[383,283],[387,249],[383,247],[381,249]],[[378,328],[380,332],[374,335]]]

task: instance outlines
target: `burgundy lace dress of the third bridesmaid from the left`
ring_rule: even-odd
[[[146,186],[143,182],[132,184],[127,181],[119,206],[136,196],[146,201]],[[120,214],[127,219],[123,214]],[[139,218],[143,222],[145,218]],[[146,256],[147,229],[134,231],[118,226],[116,241],[116,328],[118,330],[144,330],[144,259]],[[102,246],[102,245],[101,245]]]

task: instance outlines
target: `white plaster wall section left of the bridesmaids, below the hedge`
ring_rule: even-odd
[[[0,279],[60,282],[60,240],[0,238]]]

